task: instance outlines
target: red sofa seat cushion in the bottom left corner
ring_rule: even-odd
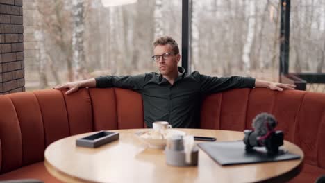
[[[38,179],[43,182],[61,182],[52,175],[49,174],[47,168],[44,166],[44,162],[38,162],[22,168],[18,168],[15,171],[4,173],[0,175],[0,180],[17,180],[17,179]]]

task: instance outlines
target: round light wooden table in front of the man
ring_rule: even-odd
[[[199,151],[199,165],[192,167],[168,166],[161,149],[147,148],[133,130],[119,132],[119,140],[99,148],[76,146],[78,134],[51,143],[44,153],[44,164],[51,175],[65,182],[283,182],[300,172],[303,152],[285,141],[290,153],[301,159],[220,166],[203,150]],[[235,141],[243,132],[226,130],[177,129],[196,136],[216,137],[217,141]]]

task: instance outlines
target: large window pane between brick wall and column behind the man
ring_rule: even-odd
[[[78,69],[82,78],[156,71],[152,42],[160,35],[181,48],[181,1],[83,0],[83,8],[72,2],[24,1],[27,90],[76,80]]]

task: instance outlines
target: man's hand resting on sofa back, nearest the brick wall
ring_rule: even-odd
[[[80,80],[76,82],[67,82],[62,85],[53,87],[53,89],[69,89],[65,94],[72,94],[73,92],[78,91],[81,87],[96,87],[96,80],[94,78],[89,80]]]

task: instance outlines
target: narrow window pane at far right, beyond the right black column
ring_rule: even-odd
[[[290,73],[325,69],[325,1],[291,1]]]

